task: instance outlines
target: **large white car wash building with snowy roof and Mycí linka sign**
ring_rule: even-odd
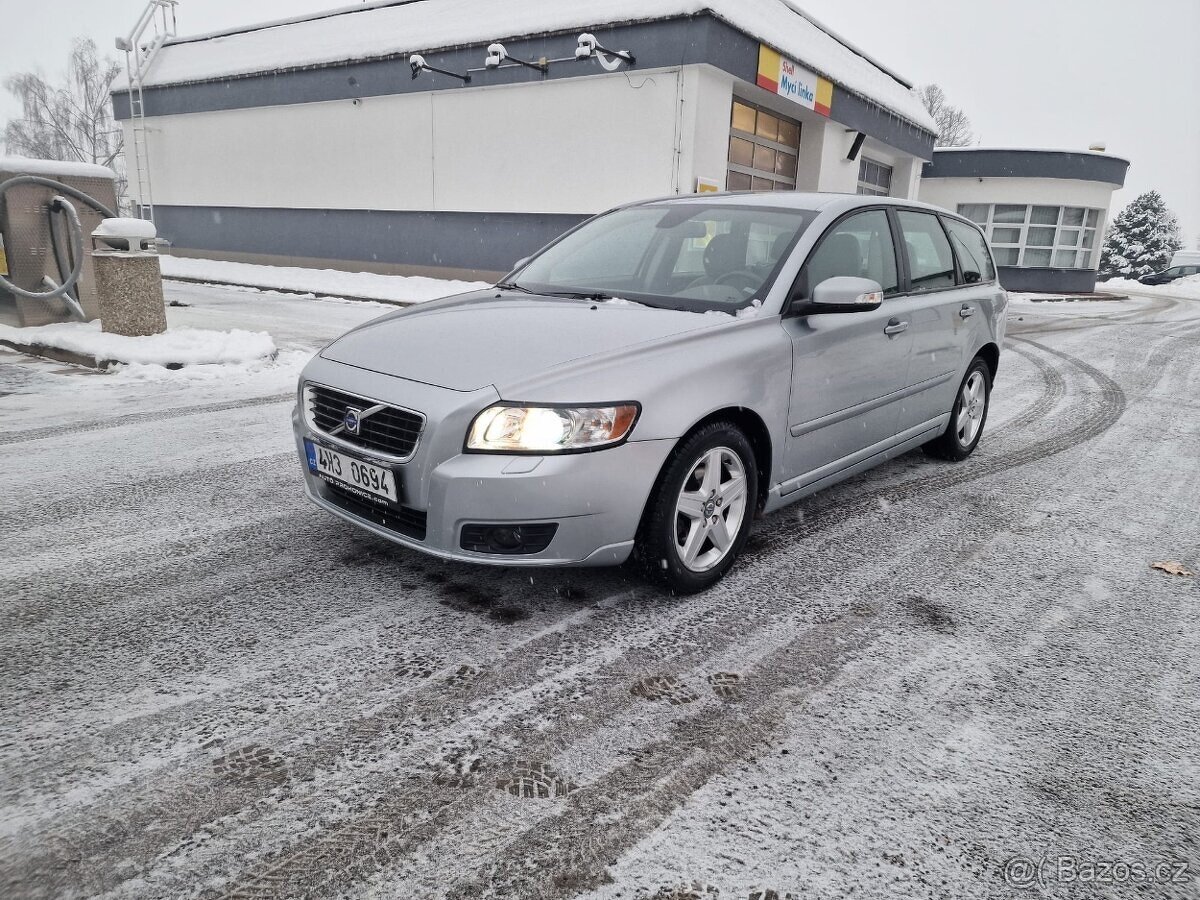
[[[649,197],[916,197],[934,146],[908,83],[781,0],[374,2],[173,40],[144,84],[137,199],[242,262],[493,275]]]

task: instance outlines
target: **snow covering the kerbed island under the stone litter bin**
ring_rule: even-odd
[[[101,362],[158,367],[242,364],[276,354],[275,342],[263,331],[182,328],[162,335],[126,337],[101,331],[98,322],[37,328],[0,325],[0,341],[79,353]]]

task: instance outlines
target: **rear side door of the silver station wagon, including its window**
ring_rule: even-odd
[[[905,432],[929,425],[954,406],[979,286],[960,283],[950,238],[937,215],[899,209],[895,220],[907,284],[893,308],[911,323],[912,332],[907,396],[898,406],[896,430]]]

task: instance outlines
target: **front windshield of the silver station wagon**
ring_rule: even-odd
[[[539,294],[733,312],[766,296],[814,218],[808,210],[732,204],[634,206],[566,235],[509,283]]]

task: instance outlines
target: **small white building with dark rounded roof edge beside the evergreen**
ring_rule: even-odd
[[[1096,288],[1112,193],[1129,163],[1100,152],[947,149],[934,152],[920,199],[973,220],[1009,290]]]

